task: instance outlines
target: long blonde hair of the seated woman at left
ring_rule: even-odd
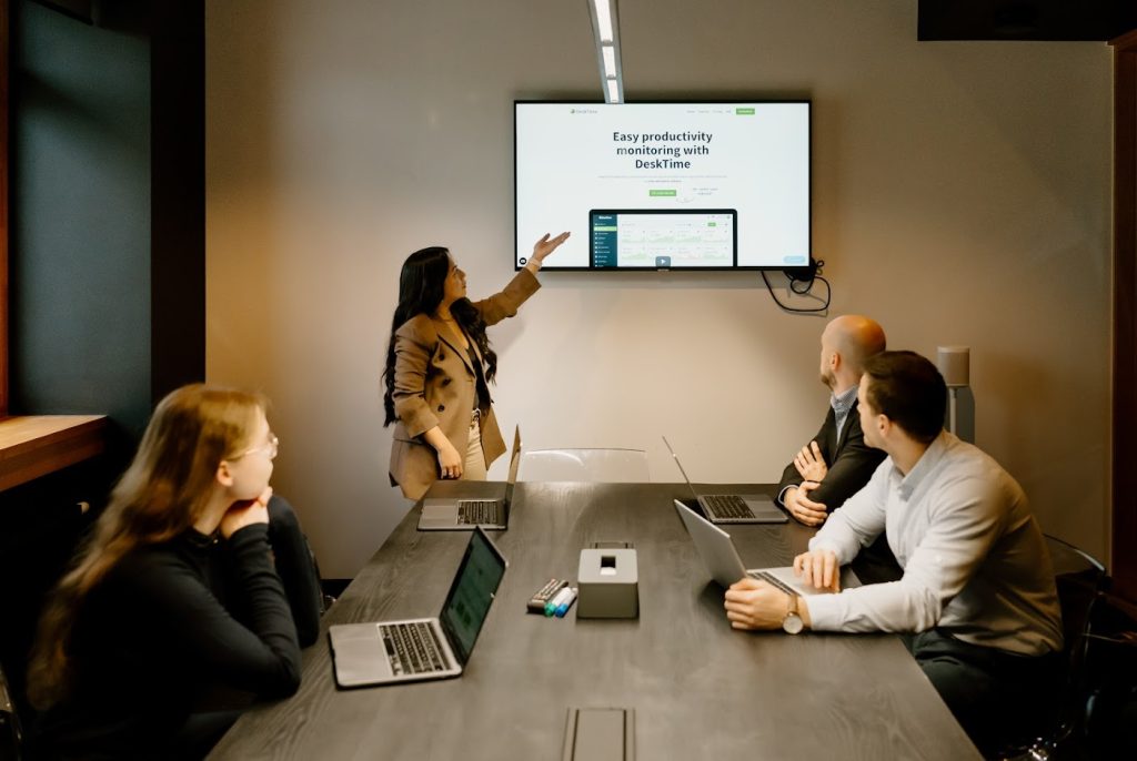
[[[249,446],[264,410],[259,394],[204,384],[183,386],[158,403],[134,461],[40,618],[27,672],[35,708],[50,708],[72,687],[70,634],[86,595],[128,553],[167,542],[201,517],[217,467]]]

